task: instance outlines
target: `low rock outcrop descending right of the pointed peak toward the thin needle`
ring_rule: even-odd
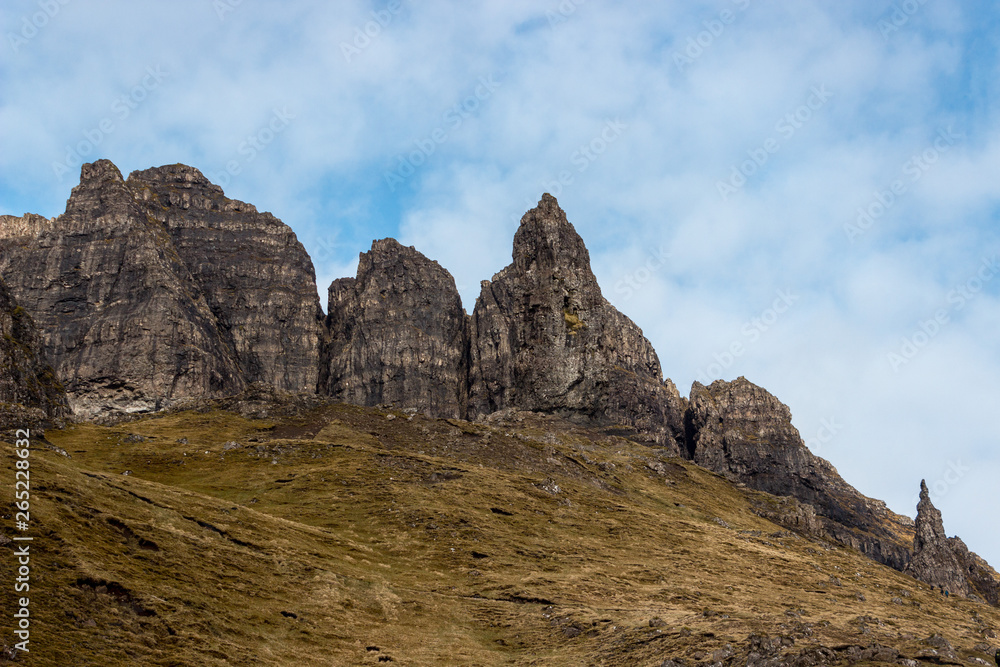
[[[813,455],[792,426],[788,406],[764,389],[743,377],[708,387],[695,382],[685,429],[685,454],[698,465],[811,506],[815,518],[796,519],[796,526],[809,526],[809,532],[896,569],[906,566],[909,520],[863,496],[828,461]]]

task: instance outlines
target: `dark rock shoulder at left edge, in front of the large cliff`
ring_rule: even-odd
[[[8,406],[49,418],[67,412],[66,392],[45,358],[35,323],[0,279],[0,422]]]

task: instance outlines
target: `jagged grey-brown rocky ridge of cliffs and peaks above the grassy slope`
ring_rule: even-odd
[[[742,377],[680,395],[641,329],[603,297],[549,194],[522,217],[512,263],[482,282],[471,314],[446,269],[384,239],[361,253],[355,278],[331,284],[324,318],[294,232],[185,165],[128,179],[107,160],[84,165],[63,215],[3,219],[0,275],[85,418],[254,384],[450,418],[537,412],[794,498],[771,518],[896,570],[910,564],[912,524],[809,452],[777,398]],[[949,561],[955,581],[969,580],[959,561],[974,556]],[[996,584],[979,579],[955,592],[996,600]]]

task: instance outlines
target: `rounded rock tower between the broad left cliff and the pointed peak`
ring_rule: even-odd
[[[359,405],[465,415],[468,322],[451,274],[394,239],[330,285],[321,391]]]

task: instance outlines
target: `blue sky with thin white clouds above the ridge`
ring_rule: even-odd
[[[1000,8],[956,0],[7,1],[0,214],[185,163],[330,281],[455,277],[556,196],[664,374],[745,376],[814,453],[1000,566]]]

